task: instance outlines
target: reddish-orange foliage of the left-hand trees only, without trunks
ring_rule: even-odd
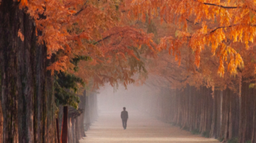
[[[55,55],[55,63],[47,68],[52,73],[74,73],[72,58],[84,55],[92,60],[80,63],[79,73],[74,74],[87,82],[93,78],[95,86],[105,81],[113,84],[118,79],[126,85],[133,82],[131,76],[140,70],[140,65],[133,65],[141,60],[137,52],[155,55],[153,35],[130,26],[123,0],[19,2],[20,9],[26,7],[35,20],[38,43],[46,45],[48,58]],[[22,38],[21,33],[18,35]],[[141,50],[141,45],[149,48]],[[132,59],[136,61],[131,62]]]

